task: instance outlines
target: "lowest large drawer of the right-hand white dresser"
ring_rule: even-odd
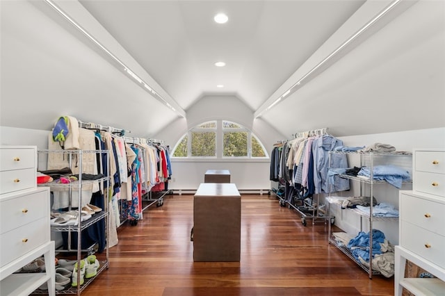
[[[400,245],[441,268],[445,268],[445,237],[401,221]]]

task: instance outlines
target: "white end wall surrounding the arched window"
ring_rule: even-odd
[[[189,129],[210,120],[229,120],[242,124],[257,135],[268,153],[274,142],[286,138],[261,118],[254,120],[253,111],[234,95],[202,97],[186,113],[187,120],[175,120],[154,138],[163,139],[173,149]],[[232,183],[236,183],[239,190],[270,188],[268,159],[227,161],[172,158],[172,167],[173,176],[169,188],[173,190],[196,190],[204,182],[204,173],[207,170],[229,170]]]

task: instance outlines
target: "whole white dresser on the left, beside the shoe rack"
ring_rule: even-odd
[[[0,295],[29,295],[47,282],[55,295],[49,188],[37,188],[37,148],[0,146]],[[44,256],[46,271],[14,273]]]

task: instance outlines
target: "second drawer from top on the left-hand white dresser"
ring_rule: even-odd
[[[35,188],[37,186],[35,174],[34,168],[0,172],[0,194]]]

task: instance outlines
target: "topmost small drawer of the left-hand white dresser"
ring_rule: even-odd
[[[0,171],[35,168],[36,152],[34,148],[1,148]]]

